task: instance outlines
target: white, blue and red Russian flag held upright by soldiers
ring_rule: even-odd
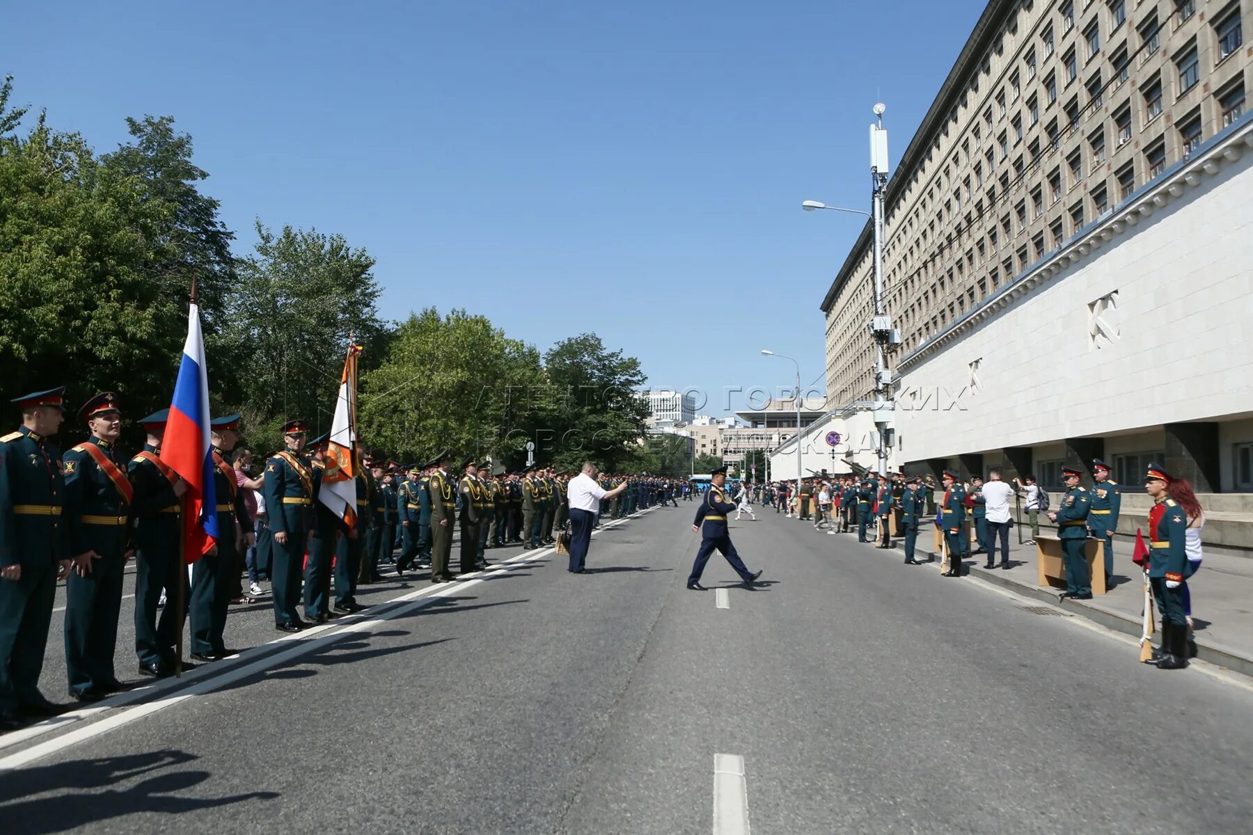
[[[178,366],[160,458],[187,482],[183,494],[183,555],[195,562],[218,543],[213,491],[213,443],[209,438],[209,378],[204,369],[200,309],[194,302],[187,320],[187,343]]]

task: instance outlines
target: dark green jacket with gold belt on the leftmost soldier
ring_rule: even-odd
[[[35,570],[69,558],[61,451],[26,427],[0,437],[0,566]]]

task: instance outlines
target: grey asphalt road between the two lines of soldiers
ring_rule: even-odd
[[[773,512],[689,592],[692,510],[0,736],[0,831],[1248,831],[1247,680]]]

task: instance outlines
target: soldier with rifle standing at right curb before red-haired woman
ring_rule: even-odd
[[[1162,612],[1162,651],[1159,670],[1188,666],[1188,618],[1183,603],[1183,581],[1188,571],[1188,517],[1179,503],[1168,497],[1170,474],[1149,464],[1144,489],[1153,498],[1149,510],[1149,586]]]

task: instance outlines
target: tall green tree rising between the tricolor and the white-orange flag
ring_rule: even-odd
[[[227,391],[237,394],[227,402],[241,404],[249,441],[277,448],[283,421],[303,418],[316,434],[331,428],[350,334],[368,366],[385,325],[365,249],[316,230],[274,233],[259,220],[257,237],[256,252],[238,262],[223,327],[205,339],[211,368],[228,369]]]

